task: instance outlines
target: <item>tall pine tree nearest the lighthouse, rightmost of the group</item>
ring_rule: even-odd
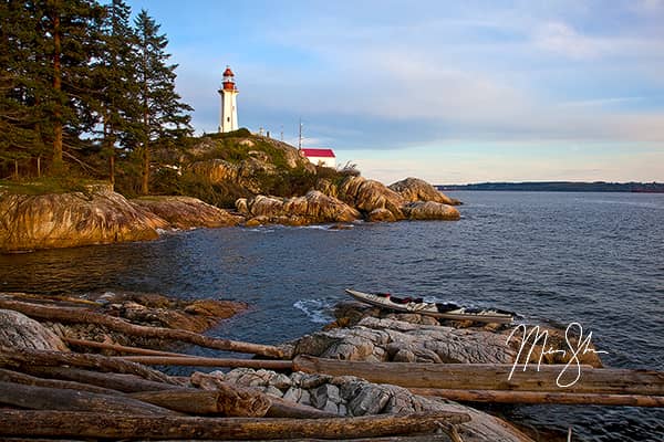
[[[159,34],[159,25],[147,11],[142,10],[135,20],[138,55],[138,106],[141,117],[136,131],[141,151],[141,192],[149,191],[151,149],[156,140],[188,135],[190,106],[180,102],[175,92],[176,64],[168,65],[168,40]]]

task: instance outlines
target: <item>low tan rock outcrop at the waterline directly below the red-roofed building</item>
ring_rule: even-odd
[[[251,200],[239,199],[238,212],[247,217],[247,225],[289,224],[303,225],[321,222],[352,222],[361,218],[360,212],[336,198],[318,190],[304,197],[276,198],[258,196]]]

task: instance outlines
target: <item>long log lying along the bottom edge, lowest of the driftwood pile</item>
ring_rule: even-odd
[[[71,411],[0,410],[0,434],[106,439],[351,439],[429,433],[466,413],[377,414],[335,419],[145,417]]]

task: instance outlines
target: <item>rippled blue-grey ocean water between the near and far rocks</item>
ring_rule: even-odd
[[[156,292],[250,308],[210,334],[281,343],[320,329],[345,287],[580,323],[606,366],[664,370],[664,194],[450,192],[458,222],[229,228],[0,255],[0,291]],[[200,350],[204,351],[204,350]],[[664,441],[664,410],[498,407],[574,441]]]

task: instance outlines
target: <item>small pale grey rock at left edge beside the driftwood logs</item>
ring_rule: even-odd
[[[0,347],[69,351],[53,332],[37,320],[19,312],[2,309],[0,309]]]

